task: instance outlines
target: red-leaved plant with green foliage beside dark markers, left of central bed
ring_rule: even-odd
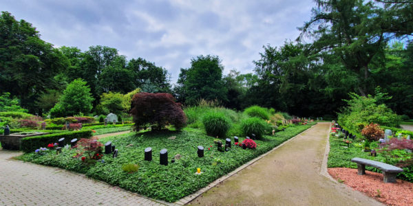
[[[94,164],[96,160],[102,159],[103,144],[96,139],[81,139],[77,143],[77,154],[85,155],[82,161],[86,164]]]

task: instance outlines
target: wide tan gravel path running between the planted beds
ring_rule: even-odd
[[[190,204],[382,205],[320,174],[329,126],[306,130]]]

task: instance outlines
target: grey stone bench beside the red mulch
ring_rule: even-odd
[[[381,172],[383,172],[383,181],[385,183],[395,183],[396,175],[399,174],[399,172],[403,172],[402,168],[398,168],[379,161],[372,161],[370,159],[355,157],[351,159],[351,161],[357,163],[357,174],[359,175],[366,174],[366,165],[378,168],[379,170],[381,170]]]

